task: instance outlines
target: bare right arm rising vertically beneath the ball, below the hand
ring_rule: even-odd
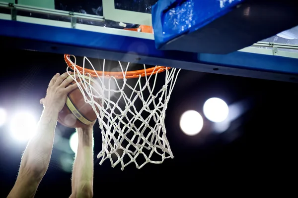
[[[93,197],[93,125],[77,128],[78,146],[74,160],[71,198]]]

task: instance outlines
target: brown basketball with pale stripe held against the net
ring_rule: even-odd
[[[88,76],[84,76],[84,78],[86,81],[89,81]],[[94,82],[95,80],[91,78],[91,85],[94,87],[92,81]],[[72,84],[75,84],[75,81],[70,85]],[[85,94],[85,96],[88,98],[87,94]],[[100,104],[99,101],[97,102]],[[78,88],[68,94],[66,103],[58,115],[58,122],[70,128],[81,128],[90,125],[96,119],[97,116],[92,106],[85,102],[84,97]]]

